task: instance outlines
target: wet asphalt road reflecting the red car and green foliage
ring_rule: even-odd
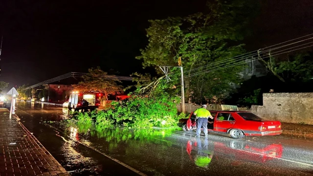
[[[231,139],[194,132],[124,132],[119,129],[70,128],[56,135],[43,121],[64,118],[66,110],[19,103],[22,124],[71,175],[137,175],[118,159],[146,175],[313,176],[313,141],[286,136]],[[73,142],[91,146],[94,150]]]

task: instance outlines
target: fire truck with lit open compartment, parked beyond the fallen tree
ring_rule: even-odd
[[[102,93],[73,91],[69,95],[68,109],[74,111],[95,110],[100,106],[101,97]]]

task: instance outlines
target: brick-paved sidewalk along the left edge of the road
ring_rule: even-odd
[[[69,176],[60,163],[13,116],[0,109],[0,176]]]

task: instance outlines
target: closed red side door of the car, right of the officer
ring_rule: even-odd
[[[216,132],[227,132],[228,129],[233,127],[235,119],[231,113],[219,112],[214,122],[214,131]]]

